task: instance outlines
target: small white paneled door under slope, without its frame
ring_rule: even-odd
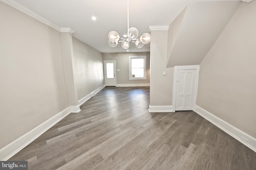
[[[196,70],[178,70],[175,110],[193,110]]]

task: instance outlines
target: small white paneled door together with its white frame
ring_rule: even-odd
[[[173,110],[194,110],[198,88],[199,65],[174,66]]]

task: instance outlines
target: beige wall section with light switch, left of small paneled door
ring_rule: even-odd
[[[151,31],[150,106],[172,106],[174,68],[166,68],[167,35],[167,30]]]

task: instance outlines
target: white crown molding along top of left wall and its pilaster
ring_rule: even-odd
[[[69,30],[67,31],[67,28],[61,28],[58,25],[56,25],[55,23],[53,23],[50,20],[47,20],[46,18],[44,18],[43,16],[41,16],[40,14],[34,12],[33,10],[29,9],[28,7],[20,4],[19,2],[17,2],[16,0],[0,0],[1,2],[4,2],[5,4],[11,6],[12,8],[15,8],[16,10],[19,10],[20,12],[23,12],[24,14],[44,23],[45,25],[48,25],[49,27],[52,27],[53,29],[56,29],[59,32],[70,32],[70,33],[74,33],[73,30],[71,30],[70,28],[68,28]]]

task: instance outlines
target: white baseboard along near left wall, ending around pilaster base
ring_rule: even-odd
[[[53,125],[58,123],[61,119],[66,117],[69,113],[78,113],[79,111],[79,106],[70,106],[60,111],[60,113],[54,115],[38,127],[32,129],[22,137],[19,137],[9,145],[0,149],[0,160],[8,160],[14,156],[14,154],[22,150],[24,147],[26,147],[28,144],[30,144],[32,141],[50,129]]]

